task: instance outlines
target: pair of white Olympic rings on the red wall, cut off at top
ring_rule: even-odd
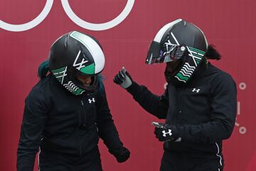
[[[68,17],[78,26],[91,31],[104,31],[113,28],[114,26],[117,26],[119,23],[124,21],[124,19],[129,15],[130,11],[132,11],[134,1],[135,0],[127,0],[127,4],[124,7],[123,11],[119,13],[116,18],[112,19],[112,21],[108,21],[106,23],[89,23],[87,21],[84,21],[73,12],[73,10],[70,8],[70,4],[68,4],[68,0],[61,0],[61,4]],[[43,11],[41,11],[41,13],[32,21],[23,24],[10,24],[0,20],[0,26],[6,31],[27,31],[31,28],[38,26],[38,24],[41,23],[46,18],[46,16],[48,16],[48,13],[50,12],[52,6],[53,0],[47,0],[46,6],[43,8]]]

